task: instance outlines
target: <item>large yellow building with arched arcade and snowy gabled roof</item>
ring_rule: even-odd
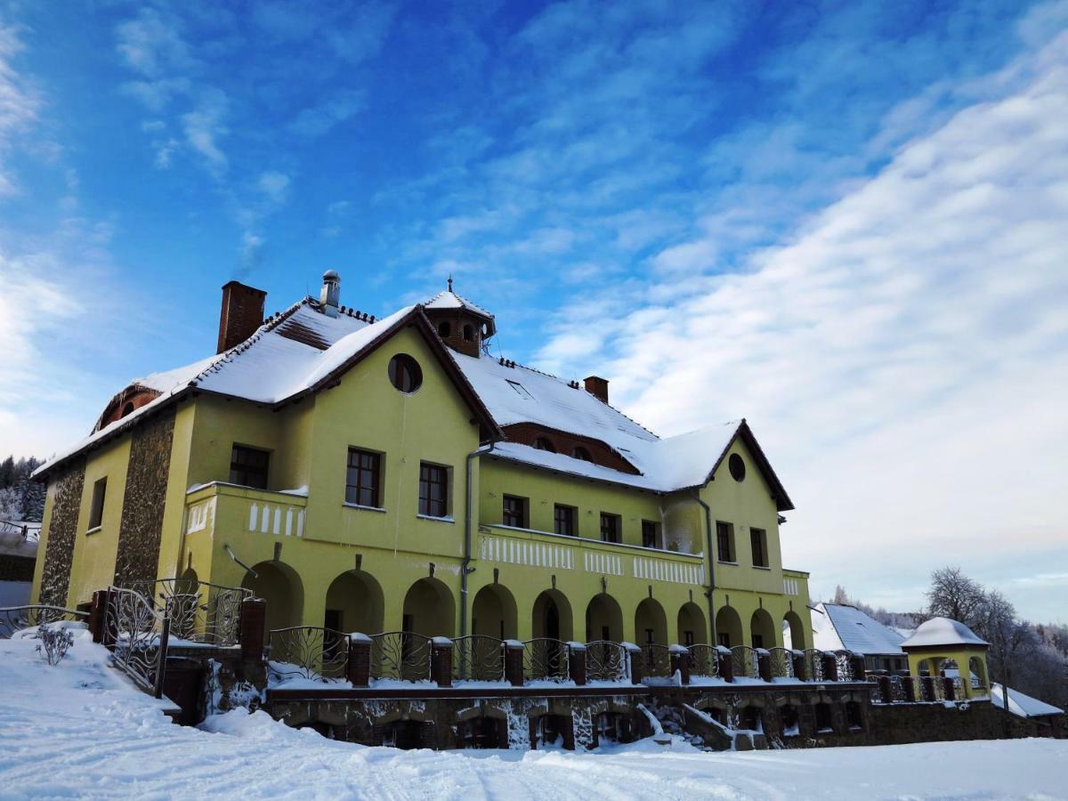
[[[811,647],[744,420],[658,438],[601,378],[490,357],[451,285],[375,319],[340,283],[267,319],[226,284],[218,354],[134,381],[38,471],[34,602],[197,577],[269,628]]]

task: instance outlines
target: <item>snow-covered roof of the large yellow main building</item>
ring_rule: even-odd
[[[331,317],[323,313],[317,301],[304,298],[268,319],[252,336],[231,350],[135,379],[131,386],[144,387],[159,395],[57,454],[36,474],[116,435],[177,394],[192,389],[271,405],[317,390],[332,374],[347,367],[372,343],[391,333],[395,326],[421,308],[465,308],[492,319],[491,314],[451,288],[423,307],[406,307],[377,321],[351,313]],[[502,442],[497,447],[500,458],[668,492],[707,483],[731,443],[742,436],[771,486],[780,509],[792,508],[744,420],[660,439],[575,382],[511,361],[467,356],[444,347],[441,350],[447,354],[443,358],[446,361],[451,358],[458,368],[450,367],[450,372],[459,376],[456,380],[462,384],[461,391],[471,395],[473,390],[468,399],[481,409],[481,413],[491,418],[491,429],[493,424],[529,423],[598,440],[632,466],[638,474],[513,442]]]

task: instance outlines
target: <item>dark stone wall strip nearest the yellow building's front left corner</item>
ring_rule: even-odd
[[[157,578],[173,438],[173,411],[138,426],[131,436],[115,555],[116,585]]]

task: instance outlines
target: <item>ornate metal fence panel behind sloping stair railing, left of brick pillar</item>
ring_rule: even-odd
[[[171,619],[171,635],[195,643],[236,645],[240,639],[241,601],[251,590],[189,579],[136,581],[126,585]]]

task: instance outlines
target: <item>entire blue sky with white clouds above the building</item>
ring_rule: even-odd
[[[0,4],[0,452],[211,352],[219,287],[747,417],[789,565],[1065,622],[1068,5]],[[848,555],[846,555],[848,554]]]

